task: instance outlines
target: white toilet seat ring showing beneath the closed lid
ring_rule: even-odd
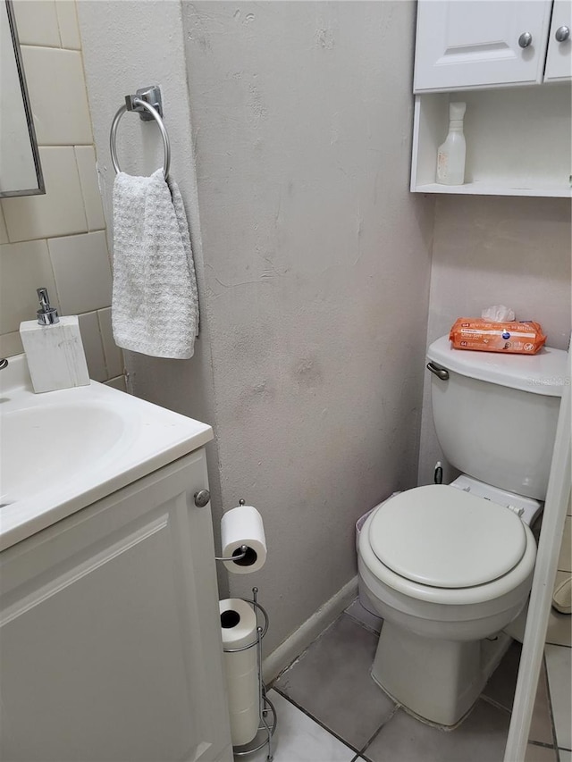
[[[435,486],[445,490],[455,490],[454,487],[445,485],[432,485],[431,489],[433,489]],[[424,488],[416,488],[416,490],[421,489]],[[458,492],[458,490],[455,490],[455,492]],[[398,497],[400,496],[397,495],[395,498],[390,498],[390,500],[395,500]],[[493,599],[500,599],[502,596],[509,594],[512,590],[516,590],[517,587],[523,582],[526,582],[526,580],[534,571],[536,543],[534,541],[533,533],[526,526],[526,524],[522,523],[522,527],[526,536],[525,552],[521,560],[517,563],[517,565],[510,569],[508,574],[504,574],[501,577],[492,580],[492,582],[485,582],[484,584],[465,588],[440,588],[433,585],[426,585],[421,582],[409,580],[401,574],[394,572],[389,566],[383,564],[383,562],[376,556],[371,546],[369,537],[371,524],[373,523],[375,516],[377,513],[379,513],[380,509],[383,506],[387,506],[389,502],[390,501],[388,500],[383,503],[382,506],[378,507],[374,513],[369,516],[362,528],[360,535],[359,560],[360,564],[365,566],[367,573],[371,575],[372,583],[377,581],[382,585],[387,586],[391,590],[395,590],[402,596],[406,596],[410,599],[416,599],[418,601],[425,601],[427,604],[458,606],[479,604],[484,603],[485,601],[492,601]],[[509,511],[507,511],[507,513],[509,513]]]

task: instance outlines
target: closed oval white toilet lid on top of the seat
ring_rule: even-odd
[[[508,574],[525,553],[526,531],[508,508],[432,484],[383,503],[369,541],[375,556],[408,580],[467,588]]]

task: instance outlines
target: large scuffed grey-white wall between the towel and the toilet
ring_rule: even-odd
[[[433,201],[408,192],[415,6],[183,4],[225,508],[265,518],[267,647],[416,483]]]

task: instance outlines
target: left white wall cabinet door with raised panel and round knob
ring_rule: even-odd
[[[419,0],[414,91],[542,82],[550,16],[551,0]]]

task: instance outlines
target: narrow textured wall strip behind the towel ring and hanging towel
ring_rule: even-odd
[[[195,356],[191,360],[162,360],[125,352],[131,386],[138,397],[214,425],[211,342],[181,4],[173,0],[80,0],[78,15],[110,245],[113,244],[115,172],[109,154],[109,130],[115,112],[124,104],[124,96],[138,88],[158,84],[164,97],[164,123],[171,140],[171,173],[181,189],[187,210],[197,271],[201,331],[195,342]],[[163,141],[156,125],[140,121],[137,114],[124,114],[117,130],[117,153],[123,171],[139,175],[153,172],[163,163]],[[218,521],[220,481],[216,442],[206,450],[214,515]],[[222,583],[223,587],[223,577]]]

